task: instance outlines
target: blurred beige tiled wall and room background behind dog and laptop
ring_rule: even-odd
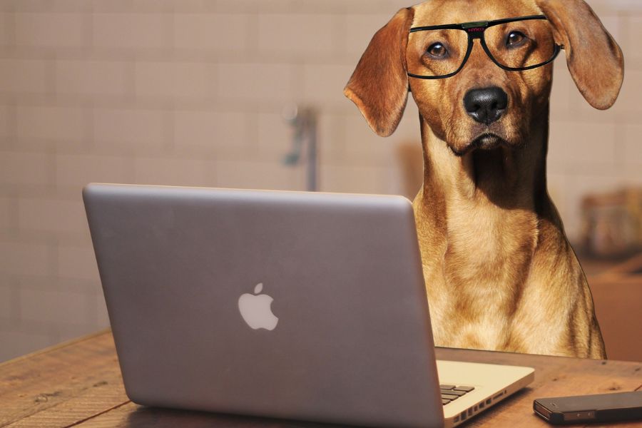
[[[611,357],[642,360],[630,330],[642,329],[642,260],[618,265],[642,239],[642,2],[588,3],[625,53],[625,83],[614,108],[595,111],[557,59],[549,191]],[[315,136],[319,190],[414,197],[412,100],[379,138],[342,95],[371,36],[404,6],[1,0],[0,361],[108,325],[86,183],[305,190]]]

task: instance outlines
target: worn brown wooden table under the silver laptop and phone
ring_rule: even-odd
[[[537,397],[642,389],[642,363],[437,349],[442,360],[535,367],[535,382],[465,427],[549,427],[533,414]],[[580,425],[581,426],[581,425]],[[596,427],[596,425],[591,425]],[[0,427],[330,427],[140,407],[123,389],[110,331],[0,365]],[[334,426],[333,426],[334,427]],[[642,422],[616,424],[642,427]]]

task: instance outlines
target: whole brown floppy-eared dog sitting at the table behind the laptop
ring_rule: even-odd
[[[454,71],[448,61],[462,61],[459,33],[433,26],[541,14],[537,25],[492,32],[467,25],[464,37],[486,31],[486,49],[473,34],[457,74],[408,76],[443,76]],[[541,62],[533,52],[546,44],[566,51],[591,106],[613,105],[623,56],[582,0],[429,0],[402,9],[345,88],[380,136],[397,128],[409,89],[419,107],[424,184],[414,210],[438,346],[606,357],[586,277],[546,190],[553,66],[508,71],[488,54],[524,68]]]

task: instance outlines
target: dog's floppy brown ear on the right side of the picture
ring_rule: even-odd
[[[624,78],[620,46],[584,0],[536,0],[564,45],[571,76],[591,106],[613,106]]]

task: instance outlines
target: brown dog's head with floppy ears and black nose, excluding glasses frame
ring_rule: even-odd
[[[469,57],[451,77],[408,76],[434,77],[440,67],[442,74],[450,73],[454,68],[448,68],[447,61],[461,62],[465,56],[461,41],[457,46],[447,31],[410,29],[540,14],[546,20],[536,25],[514,22],[494,27],[491,34],[489,29],[470,29],[489,34],[484,38],[486,49],[481,38],[471,37]],[[466,31],[463,34],[467,37]],[[533,61],[526,60],[533,49],[544,44],[564,47],[571,76],[591,106],[613,105],[623,81],[622,52],[583,0],[429,0],[402,9],[372,38],[345,95],[380,136],[397,128],[410,88],[422,117],[454,153],[519,146],[534,119],[546,112],[552,63],[509,71],[489,54],[511,55],[516,59],[509,66],[525,68],[526,61]]]

